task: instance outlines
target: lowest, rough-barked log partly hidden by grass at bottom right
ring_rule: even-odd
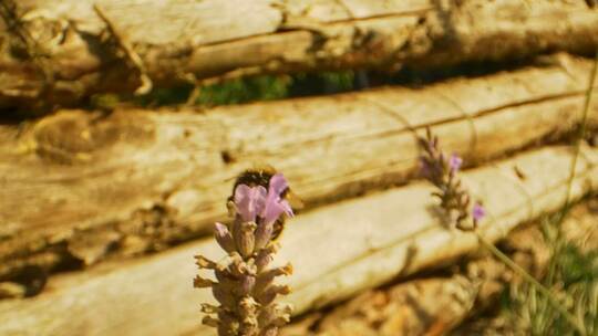
[[[576,206],[560,228],[567,241],[586,251],[598,248],[597,214],[588,208],[588,203]],[[518,265],[538,279],[546,272],[551,249],[539,225],[536,222],[517,229],[502,244]],[[331,312],[310,313],[285,327],[281,335],[446,335],[472,315],[492,308],[507,285],[520,281],[518,274],[487,253],[452,269],[450,276],[409,280],[368,291]]]

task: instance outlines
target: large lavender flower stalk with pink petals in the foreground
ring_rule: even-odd
[[[283,199],[287,180],[275,174],[267,186],[238,183],[228,202],[230,224],[215,223],[214,237],[228,254],[223,262],[197,255],[199,270],[214,272],[216,281],[197,275],[194,287],[212,288],[218,305],[203,304],[203,323],[217,328],[219,336],[276,336],[289,322],[291,307],[275,302],[287,295],[287,285],[277,285],[280,275],[290,275],[292,266],[270,267],[279,245],[274,227],[293,212]]]

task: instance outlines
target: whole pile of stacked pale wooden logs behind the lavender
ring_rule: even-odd
[[[7,0],[0,17],[2,114],[39,113],[0,123],[1,335],[214,335],[193,255],[224,256],[209,233],[255,164],[306,203],[276,260],[295,267],[287,336],[440,335],[503,288],[505,267],[443,223],[419,179],[426,129],[464,159],[488,241],[598,189],[596,139],[576,160],[564,145],[598,93],[591,1]],[[84,107],[182,83],[475,62],[518,66],[209,109]],[[598,99],[587,112],[594,130]],[[461,259],[477,260],[417,277]]]

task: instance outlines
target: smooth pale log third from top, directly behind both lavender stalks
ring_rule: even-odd
[[[489,218],[480,232],[496,241],[522,222],[559,209],[571,168],[569,147],[547,147],[462,175]],[[584,147],[571,200],[598,188],[598,149]],[[427,183],[342,201],[300,214],[281,238],[276,263],[296,273],[287,301],[295,314],[322,307],[475,251],[473,233],[441,223]],[[192,288],[193,255],[223,258],[213,240],[158,255],[50,280],[50,291],[0,302],[2,335],[213,335],[199,326],[209,291]]]

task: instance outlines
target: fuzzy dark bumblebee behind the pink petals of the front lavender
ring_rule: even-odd
[[[235,197],[235,190],[239,185],[246,185],[249,187],[257,187],[261,186],[268,190],[268,187],[270,185],[270,179],[272,176],[277,174],[276,169],[268,165],[262,166],[256,166],[251,169],[247,169],[244,172],[239,174],[239,176],[235,180],[235,185],[233,186],[233,193],[228,198],[228,201],[233,201]],[[289,202],[292,210],[300,210],[303,208],[303,202],[297,195],[295,195],[290,188],[287,188],[282,191],[280,195],[282,199],[285,199],[287,202]],[[276,241],[280,238],[280,234],[282,233],[282,230],[285,230],[285,220],[287,219],[286,214],[281,214],[278,220],[274,223],[274,232],[272,232],[272,241]]]

